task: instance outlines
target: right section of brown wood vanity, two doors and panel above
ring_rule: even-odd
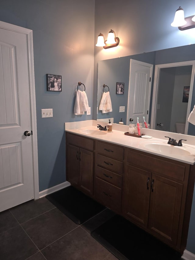
[[[180,249],[190,166],[127,149],[123,215]]]

